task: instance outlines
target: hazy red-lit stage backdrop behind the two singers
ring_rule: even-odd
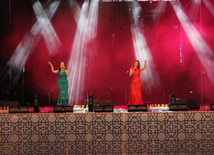
[[[168,104],[171,93],[213,102],[213,2],[196,2],[181,1],[182,9],[175,6],[174,11],[167,1],[96,2],[96,6],[93,1],[53,1],[36,8],[12,1],[11,29],[1,36],[1,71],[8,62],[18,67],[12,80],[20,96],[25,67],[25,104],[37,94],[40,104],[56,105],[58,77],[47,62],[58,69],[64,61],[70,72],[71,105],[82,104],[89,94],[94,100],[126,105],[131,82],[127,71],[136,58],[141,66],[146,58],[145,104]],[[186,11],[198,6],[194,15]]]

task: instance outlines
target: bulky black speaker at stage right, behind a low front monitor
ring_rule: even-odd
[[[196,109],[196,110],[200,109],[197,99],[176,99],[176,104],[177,105],[185,104],[188,106],[189,109]]]

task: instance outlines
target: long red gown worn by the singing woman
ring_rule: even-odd
[[[136,69],[136,71],[134,71],[132,74],[131,93],[130,93],[128,105],[143,104],[141,87],[142,87],[142,82],[140,79],[140,69]]]

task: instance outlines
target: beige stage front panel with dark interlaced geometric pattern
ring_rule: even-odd
[[[214,112],[0,115],[0,154],[213,154]]]

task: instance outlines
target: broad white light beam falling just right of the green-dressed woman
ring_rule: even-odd
[[[70,105],[78,104],[84,88],[87,44],[93,42],[97,34],[98,7],[99,1],[91,1],[90,7],[89,1],[85,1],[76,12],[78,24],[68,65],[72,75],[68,77]]]

